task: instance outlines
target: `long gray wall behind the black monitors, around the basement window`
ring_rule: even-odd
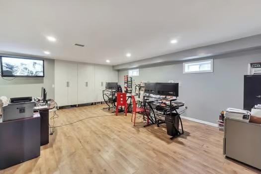
[[[179,62],[140,69],[140,76],[133,79],[136,83],[178,81],[179,100],[188,106],[183,116],[217,123],[221,110],[243,108],[244,75],[252,62],[261,62],[261,49],[215,56],[213,73],[183,74],[183,62]],[[122,87],[124,75],[128,71],[118,73]]]

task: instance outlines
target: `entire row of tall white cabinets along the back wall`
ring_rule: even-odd
[[[55,60],[55,100],[59,106],[103,101],[106,82],[118,82],[111,66]]]

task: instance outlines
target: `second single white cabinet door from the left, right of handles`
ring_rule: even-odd
[[[68,105],[78,104],[78,68],[76,63],[69,63],[67,67],[68,76]]]

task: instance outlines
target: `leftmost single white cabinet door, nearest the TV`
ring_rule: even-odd
[[[58,106],[68,105],[67,63],[55,61],[55,101]]]

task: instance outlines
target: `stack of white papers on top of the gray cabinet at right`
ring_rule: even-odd
[[[251,112],[248,110],[236,109],[236,108],[227,108],[225,112],[225,117],[238,119],[242,121],[249,121]]]

